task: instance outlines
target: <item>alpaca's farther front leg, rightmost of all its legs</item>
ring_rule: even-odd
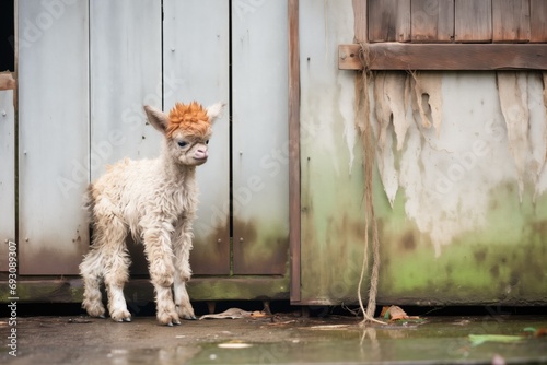
[[[190,280],[190,250],[191,250],[191,225],[190,221],[183,221],[176,228],[174,236],[175,248],[175,304],[178,316],[184,319],[196,319],[194,308],[190,304],[190,297],[186,291],[186,282]]]

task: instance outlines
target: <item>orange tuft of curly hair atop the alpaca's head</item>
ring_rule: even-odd
[[[185,136],[205,138],[211,131],[211,121],[207,110],[197,102],[190,104],[175,103],[168,115],[167,137],[173,137],[177,130]]]

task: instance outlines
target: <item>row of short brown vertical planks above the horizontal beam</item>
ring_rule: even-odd
[[[543,0],[368,0],[369,42],[547,40]]]

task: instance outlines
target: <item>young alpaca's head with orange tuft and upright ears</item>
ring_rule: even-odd
[[[165,138],[167,153],[181,165],[197,166],[207,161],[211,126],[220,116],[223,104],[207,109],[196,102],[176,103],[170,114],[144,106],[148,120]]]

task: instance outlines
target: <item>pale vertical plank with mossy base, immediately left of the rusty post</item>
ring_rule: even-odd
[[[289,250],[288,2],[235,1],[232,7],[233,270],[283,274]]]

